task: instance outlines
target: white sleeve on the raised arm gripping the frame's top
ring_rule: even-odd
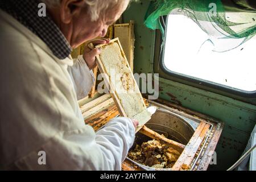
[[[73,62],[73,66],[68,67],[68,73],[71,76],[77,100],[80,100],[89,94],[95,78],[93,71],[88,68],[82,55],[78,56],[77,59],[73,59]]]

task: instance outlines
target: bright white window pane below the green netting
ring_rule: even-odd
[[[184,15],[169,15],[167,19],[163,64],[168,71],[246,92],[256,90],[255,36],[241,46],[242,39],[222,39],[219,48],[238,47],[216,52],[214,44],[219,42],[213,43],[214,38],[192,19]]]

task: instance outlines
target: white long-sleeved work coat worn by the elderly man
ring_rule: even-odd
[[[117,118],[95,133],[84,124],[77,96],[93,77],[82,57],[57,59],[1,10],[0,40],[0,169],[120,170],[134,126]]]

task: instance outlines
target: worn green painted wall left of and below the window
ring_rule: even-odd
[[[125,23],[130,19],[135,20],[135,73],[153,72],[155,32],[143,24],[148,4],[148,0],[133,2],[123,14]],[[159,86],[162,90],[160,98],[180,103],[225,123],[216,148],[217,165],[209,169],[225,170],[232,166],[242,154],[255,126],[256,106],[164,78],[160,78]]]

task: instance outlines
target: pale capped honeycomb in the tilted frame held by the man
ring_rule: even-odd
[[[135,118],[139,122],[150,119],[151,114],[147,112],[146,106],[144,106],[141,92],[135,83],[133,73],[119,44],[113,42],[102,46],[100,59],[109,76],[110,84],[114,85],[114,92],[127,117]]]

